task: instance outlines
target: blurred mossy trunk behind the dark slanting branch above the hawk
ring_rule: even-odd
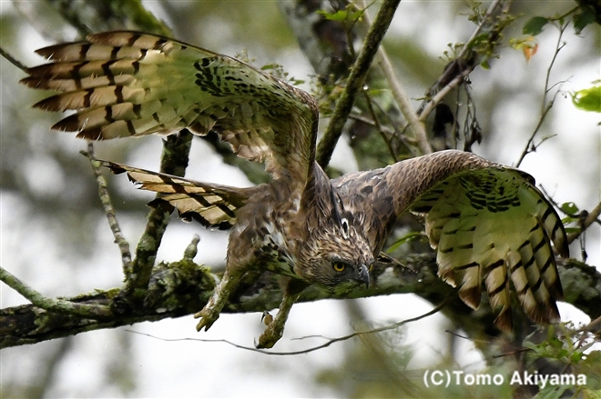
[[[348,79],[352,72],[352,63],[356,56],[353,52],[352,43],[357,35],[364,37],[372,26],[368,21],[366,10],[359,10],[346,0],[330,2],[327,0],[299,0],[296,2],[280,2],[282,14],[288,21],[290,28],[296,35],[299,45],[304,55],[309,59],[315,72],[317,73],[319,84],[322,87],[322,93],[318,100],[322,109],[327,108],[330,112],[336,106],[342,90],[341,83]],[[362,5],[364,6],[364,5]],[[347,19],[337,20],[329,19],[323,13],[325,11],[331,15],[336,12],[346,13]],[[361,15],[358,17],[358,15]],[[381,52],[382,50],[379,50]],[[377,61],[378,56],[375,57]],[[348,135],[351,138],[351,148],[355,154],[359,167],[361,169],[370,169],[387,164],[386,155],[392,155],[391,160],[396,162],[400,159],[399,153],[407,153],[409,148],[415,147],[415,140],[401,135],[401,129],[394,129],[388,125],[401,126],[405,124],[404,118],[399,114],[394,98],[388,95],[386,82],[395,81],[394,75],[385,75],[382,67],[370,68],[368,75],[365,76],[363,85],[377,90],[379,95],[369,94],[372,98],[372,104],[385,104],[381,106],[372,106],[378,113],[377,119],[385,122],[386,125],[375,124],[373,113],[369,110],[371,104],[367,104],[366,98],[360,95],[355,98],[352,105],[353,109],[359,111],[349,115]],[[398,83],[398,81],[397,81]],[[325,114],[325,113],[324,113]],[[371,117],[367,117],[370,115]],[[366,129],[371,126],[374,129]],[[370,137],[377,130],[382,136],[389,151],[384,154],[382,143]],[[396,141],[396,144],[394,142]],[[402,145],[402,148],[400,148]],[[405,148],[406,147],[406,148]],[[417,154],[417,153],[414,153]],[[334,171],[330,171],[334,173]]]

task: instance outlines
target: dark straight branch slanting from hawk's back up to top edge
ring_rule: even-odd
[[[315,158],[322,167],[328,165],[330,162],[331,154],[342,134],[342,128],[351,113],[355,96],[362,88],[365,75],[367,75],[373,57],[378,51],[378,47],[382,42],[382,38],[392,21],[392,16],[394,16],[394,11],[399,3],[401,3],[401,0],[384,1],[380,7],[380,11],[378,11],[378,15],[376,15],[370,31],[365,36],[359,57],[351,69],[351,75],[349,75],[346,86],[331,115],[330,124],[317,148],[317,155]]]

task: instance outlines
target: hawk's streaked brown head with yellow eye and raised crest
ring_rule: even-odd
[[[372,249],[352,214],[344,210],[340,196],[328,187],[327,197],[314,208],[318,217],[308,219],[308,238],[301,244],[295,273],[310,284],[343,294],[370,284]]]

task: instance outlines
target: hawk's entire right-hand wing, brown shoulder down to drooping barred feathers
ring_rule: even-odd
[[[360,214],[365,234],[380,251],[398,215],[425,214],[437,251],[438,274],[460,287],[473,308],[482,284],[498,316],[512,329],[512,287],[538,323],[558,320],[562,296],[551,243],[568,255],[565,230],[534,179],[476,155],[443,151],[334,181],[345,208]]]

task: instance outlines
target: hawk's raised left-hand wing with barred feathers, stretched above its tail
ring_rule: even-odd
[[[317,106],[311,95],[250,65],[157,35],[107,32],[37,50],[52,60],[25,85],[62,92],[36,104],[76,110],[53,128],[110,139],[219,133],[239,156],[278,178],[311,173]]]

